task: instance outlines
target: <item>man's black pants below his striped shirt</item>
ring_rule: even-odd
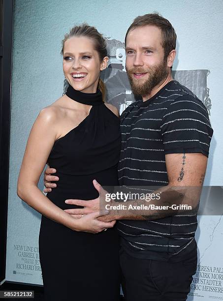
[[[125,301],[185,301],[196,271],[196,251],[190,259],[169,263],[120,252]]]

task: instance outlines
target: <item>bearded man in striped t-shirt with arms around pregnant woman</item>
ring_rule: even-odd
[[[176,33],[159,14],[147,14],[133,21],[125,42],[131,88],[142,95],[143,101],[129,105],[121,116],[120,185],[132,189],[162,186],[157,190],[165,192],[162,205],[189,202],[195,208],[198,197],[191,191],[192,187],[202,186],[213,130],[202,102],[171,76]],[[52,174],[52,169],[47,173]],[[45,178],[46,187],[55,186],[49,182],[55,181],[53,176]],[[99,183],[94,181],[94,185],[99,191]],[[68,203],[84,206],[68,210],[71,214],[98,209],[98,199]],[[151,210],[116,213],[101,220],[120,220],[117,228],[125,299],[186,300],[196,271],[196,214],[174,214],[171,210],[157,211],[156,216]]]

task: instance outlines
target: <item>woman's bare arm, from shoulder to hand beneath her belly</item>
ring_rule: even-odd
[[[74,219],[51,202],[37,187],[40,175],[57,139],[57,122],[58,113],[54,107],[43,109],[35,120],[19,173],[17,194],[36,211],[72,230],[100,232],[108,228],[110,223],[101,224],[97,221],[96,217],[99,214],[95,214],[96,217],[92,216],[90,219],[87,216]]]

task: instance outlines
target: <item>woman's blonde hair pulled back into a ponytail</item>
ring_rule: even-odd
[[[86,36],[94,42],[95,50],[98,53],[99,60],[102,61],[104,57],[108,56],[107,52],[107,44],[103,35],[99,33],[94,26],[89,26],[87,23],[83,23],[81,25],[76,25],[69,33],[64,35],[64,39],[62,41],[62,50],[61,54],[64,54],[64,43],[66,40],[73,36]],[[106,87],[101,79],[99,79],[98,89],[101,90],[103,101],[105,101],[106,97]]]

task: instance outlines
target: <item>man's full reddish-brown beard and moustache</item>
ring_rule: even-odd
[[[133,78],[132,73],[145,72],[148,72],[148,75],[145,75],[148,76],[147,80]],[[165,60],[163,60],[160,64],[155,65],[149,69],[133,67],[127,70],[127,75],[132,92],[136,95],[147,95],[156,86],[160,85],[168,76],[167,63]],[[140,84],[140,82],[142,83]]]

